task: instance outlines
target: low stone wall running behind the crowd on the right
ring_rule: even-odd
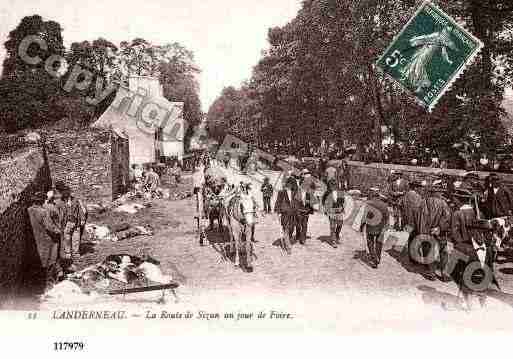
[[[403,166],[383,163],[364,164],[363,162],[349,161],[350,168],[350,185],[351,187],[368,190],[371,187],[386,188],[386,181],[390,176],[392,170],[401,171],[408,180],[429,180],[433,176],[449,175],[458,180],[461,180],[466,171],[454,169],[438,169],[429,167],[415,167]],[[479,178],[484,179],[489,175],[489,172],[476,172]],[[513,187],[513,175],[498,173],[503,182]]]

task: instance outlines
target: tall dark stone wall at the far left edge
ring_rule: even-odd
[[[51,187],[43,148],[29,147],[0,161],[0,308],[31,286],[41,263],[27,208],[37,192]]]

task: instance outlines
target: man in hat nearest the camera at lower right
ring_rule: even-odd
[[[486,304],[486,291],[491,283],[497,285],[493,273],[493,253],[487,239],[487,229],[478,226],[479,209],[473,193],[468,189],[457,189],[454,193],[458,210],[451,221],[454,252],[458,258],[453,277],[463,293],[467,309],[472,307],[472,298],[478,297],[482,306]]]

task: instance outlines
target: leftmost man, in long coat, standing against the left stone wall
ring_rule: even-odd
[[[43,277],[49,285],[57,280],[58,273],[61,271],[59,265],[61,229],[51,218],[50,212],[43,207],[43,203],[44,194],[38,193],[34,198],[34,205],[27,211],[44,271]]]

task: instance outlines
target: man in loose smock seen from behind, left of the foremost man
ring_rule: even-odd
[[[425,264],[428,280],[435,280],[435,248],[438,246],[440,257],[440,279],[444,282],[451,280],[445,273],[448,263],[447,236],[451,229],[451,210],[441,181],[434,180],[426,188],[426,199],[423,201],[417,223],[417,239],[420,240],[421,262]]]

